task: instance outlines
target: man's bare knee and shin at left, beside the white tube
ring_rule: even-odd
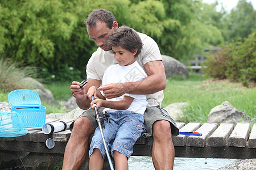
[[[65,148],[63,170],[79,169],[84,164],[92,133],[93,126],[88,117],[80,117],[75,121],[71,137]]]

